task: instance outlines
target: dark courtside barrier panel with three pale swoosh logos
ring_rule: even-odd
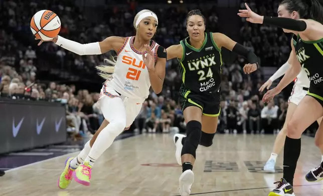
[[[0,153],[66,141],[66,111],[61,104],[0,101]]]

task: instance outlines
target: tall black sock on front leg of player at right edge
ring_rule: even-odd
[[[286,136],[284,145],[284,174],[283,178],[293,185],[294,174],[296,170],[297,160],[300,154],[301,141],[299,139],[292,139]]]

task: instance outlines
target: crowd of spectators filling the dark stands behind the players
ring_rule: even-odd
[[[251,0],[250,6],[260,14],[275,15],[277,2],[279,1],[271,0],[255,3]],[[102,64],[106,55],[78,56],[52,42],[35,47],[28,18],[37,10],[46,7],[51,7],[60,16],[63,24],[60,32],[62,36],[87,43],[102,40],[110,35],[132,35],[136,5],[131,3],[124,9],[113,6],[103,8],[103,16],[108,19],[94,23],[83,15],[72,1],[5,0],[2,3],[1,14],[6,19],[0,22],[0,96],[61,101],[66,105],[67,130],[74,133],[73,137],[93,134],[103,120],[96,104],[98,91],[76,90],[75,85],[38,80],[36,73],[40,68],[38,62],[44,58],[44,54],[48,58],[53,56],[55,61],[48,60],[48,63],[54,63],[60,69],[72,74],[85,71],[88,75],[96,74],[93,67]],[[160,8],[153,11],[158,16],[165,17],[160,19],[158,24],[155,36],[158,43],[167,47],[187,36],[185,19],[188,9]],[[168,14],[162,14],[165,11]],[[218,15],[214,8],[203,10],[203,13],[210,24],[209,30],[217,31]],[[175,20],[162,22],[169,21],[168,18]],[[27,34],[29,40],[20,41],[19,35],[22,34]],[[243,44],[260,57],[261,66],[277,66],[288,57],[288,38],[277,28],[250,24],[242,19],[240,34]],[[261,69],[250,75],[244,74],[241,67],[245,63],[246,60],[238,56],[233,63],[223,65],[218,132],[275,133],[284,122],[287,102],[279,99],[276,103],[264,104],[261,101],[263,92],[258,91],[264,80]],[[170,132],[176,127],[185,132],[183,112],[178,104],[180,85],[178,62],[170,60],[167,62],[163,91],[160,94],[150,92],[131,129],[143,132]]]

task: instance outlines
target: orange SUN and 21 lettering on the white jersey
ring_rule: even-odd
[[[140,77],[140,73],[141,73],[141,70],[139,70],[139,68],[140,69],[145,68],[145,64],[143,63],[143,61],[142,60],[139,61],[139,60],[132,58],[130,56],[123,56],[122,62],[133,66],[133,67],[128,68],[126,78],[132,79],[132,80],[138,80]]]

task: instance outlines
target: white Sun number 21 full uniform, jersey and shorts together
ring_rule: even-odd
[[[134,36],[126,37],[123,46],[117,51],[113,78],[104,82],[99,97],[99,101],[116,97],[123,100],[126,113],[126,128],[129,128],[138,115],[143,101],[149,95],[150,88],[149,73],[145,64],[143,64],[142,52],[134,48],[133,41]],[[150,46],[154,53],[155,62],[157,60],[158,46],[154,41]]]

